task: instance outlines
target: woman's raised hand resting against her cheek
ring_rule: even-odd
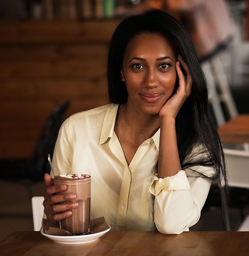
[[[182,70],[180,68],[180,64],[185,69],[187,76],[185,77],[182,73]],[[189,95],[191,94],[191,88],[192,88],[192,78],[189,74],[189,69],[187,67],[187,64],[183,59],[178,56],[178,61],[176,62],[176,72],[179,78],[179,87],[176,90],[176,93],[173,94],[173,96],[166,101],[164,106],[162,106],[159,115],[160,116],[169,116],[176,119],[176,116],[187,99]]]

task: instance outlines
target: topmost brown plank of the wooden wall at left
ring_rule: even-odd
[[[0,42],[14,43],[108,43],[120,20],[33,20],[0,23]]]

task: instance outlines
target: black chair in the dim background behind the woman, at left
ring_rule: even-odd
[[[1,160],[0,166],[4,170],[1,180],[20,181],[27,187],[29,197],[33,197],[31,182],[43,179],[45,173],[50,173],[48,154],[53,156],[53,150],[64,115],[69,108],[70,101],[53,109],[40,132],[33,153],[28,160]]]

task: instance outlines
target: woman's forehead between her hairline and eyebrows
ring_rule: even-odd
[[[174,49],[169,40],[159,33],[140,34],[134,36],[128,43],[125,56],[129,54],[165,53],[175,56]]]

